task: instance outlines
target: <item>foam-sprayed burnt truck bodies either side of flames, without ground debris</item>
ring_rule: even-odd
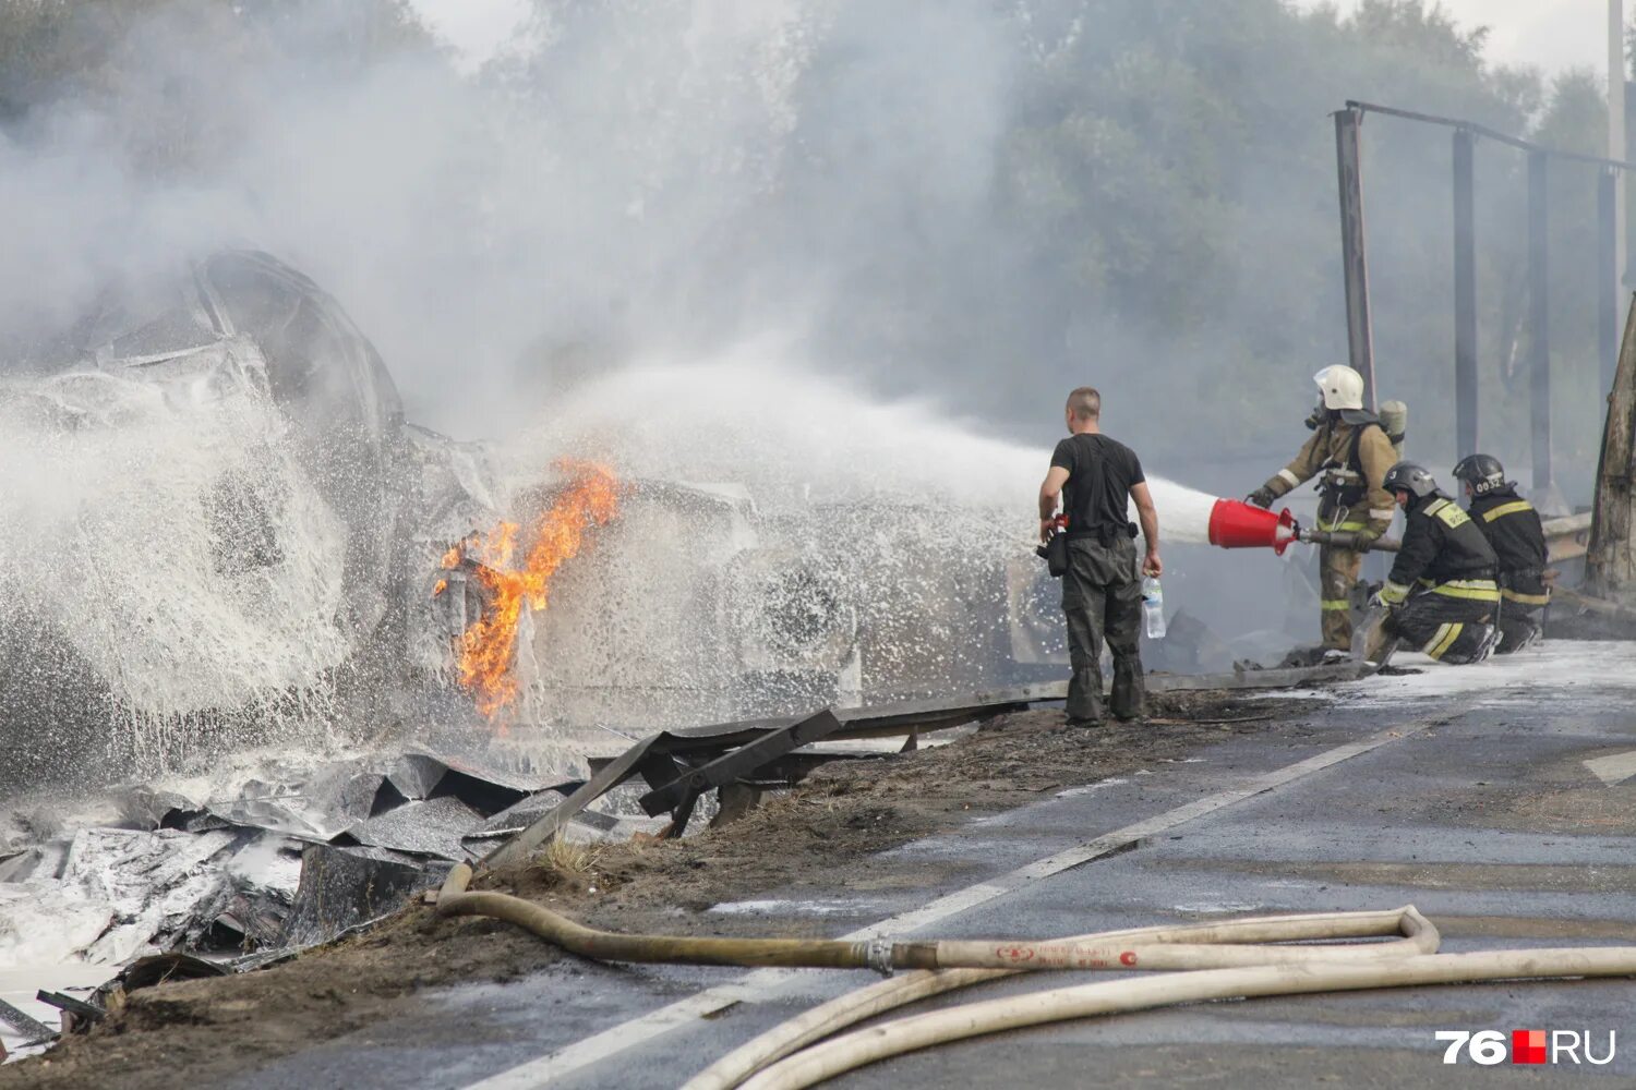
[[[0,789],[111,783],[222,748],[221,735],[288,739],[303,719],[321,735],[473,724],[452,647],[486,600],[470,564],[440,570],[438,557],[473,528],[527,525],[556,485],[507,487],[484,444],[407,423],[334,297],[272,255],[227,250],[33,355],[33,374],[0,381],[0,423],[62,443],[136,435],[141,472],[59,515],[52,549],[70,559],[54,577],[13,556]],[[173,471],[177,451],[196,474]],[[110,438],[101,458],[126,454]],[[1034,565],[973,575],[957,549],[908,539],[926,513],[733,482],[622,492],[551,608],[524,618],[515,668],[545,696],[525,721],[717,722],[1021,683],[1062,657]],[[859,585],[862,565],[823,556],[813,526],[870,543],[879,577]],[[121,543],[129,570],[110,562]],[[440,579],[456,593],[434,598]],[[237,628],[250,636],[227,647]]]

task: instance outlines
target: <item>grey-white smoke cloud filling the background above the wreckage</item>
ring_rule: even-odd
[[[20,57],[0,87],[0,337],[23,346],[0,356],[61,363],[47,332],[252,243],[348,307],[411,418],[461,436],[584,373],[771,333],[1011,438],[1044,441],[1090,381],[1150,458],[1276,462],[1345,351],[1322,111],[1521,129],[1538,106],[1414,5],[537,0],[479,69],[388,0],[64,7],[85,56]],[[1381,386],[1427,438],[1451,417],[1440,141],[1368,149]],[[1485,173],[1495,266],[1517,183]]]

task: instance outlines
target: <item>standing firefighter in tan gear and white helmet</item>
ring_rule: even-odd
[[[1379,418],[1363,407],[1363,376],[1345,366],[1312,376],[1322,404],[1307,420],[1314,428],[1296,459],[1245,497],[1256,507],[1291,492],[1314,476],[1319,480],[1319,529],[1353,534],[1353,546],[1324,546],[1319,552],[1319,593],[1324,657],[1351,654],[1351,588],[1363,569],[1363,551],[1392,525],[1392,497],[1381,482],[1397,461]]]

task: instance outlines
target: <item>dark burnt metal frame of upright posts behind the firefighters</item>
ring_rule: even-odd
[[[1598,155],[1566,152],[1499,132],[1474,121],[1440,118],[1414,109],[1397,109],[1348,100],[1335,113],[1335,165],[1340,180],[1342,268],[1346,286],[1346,343],[1351,366],[1363,374],[1366,400],[1374,407],[1374,342],[1369,319],[1369,265],[1364,247],[1363,217],[1363,150],[1360,131],[1363,116],[1378,113],[1422,124],[1454,129],[1453,134],[1453,234],[1454,234],[1454,433],[1458,454],[1477,453],[1477,232],[1474,222],[1477,137],[1505,144],[1528,154],[1528,368],[1530,368],[1530,438],[1533,448],[1533,485],[1543,492],[1553,485],[1551,469],[1551,309],[1548,247],[1548,181],[1549,162],[1589,163],[1598,168],[1597,185],[1597,343],[1602,361],[1602,386],[1613,387],[1618,364],[1618,172],[1636,170],[1636,163]]]

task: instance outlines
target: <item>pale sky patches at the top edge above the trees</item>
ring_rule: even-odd
[[[515,47],[528,0],[411,0],[427,23],[453,44],[468,67],[506,46]],[[1315,7],[1322,0],[1291,0]],[[1340,0],[1342,10],[1358,0]],[[1528,64],[1548,74],[1571,67],[1607,69],[1607,0],[1441,0],[1463,26],[1489,26],[1489,57]],[[1625,16],[1636,0],[1625,2]]]

